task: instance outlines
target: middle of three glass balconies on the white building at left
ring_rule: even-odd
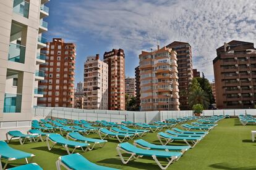
[[[8,60],[12,62],[24,63],[25,62],[26,47],[10,42]]]

